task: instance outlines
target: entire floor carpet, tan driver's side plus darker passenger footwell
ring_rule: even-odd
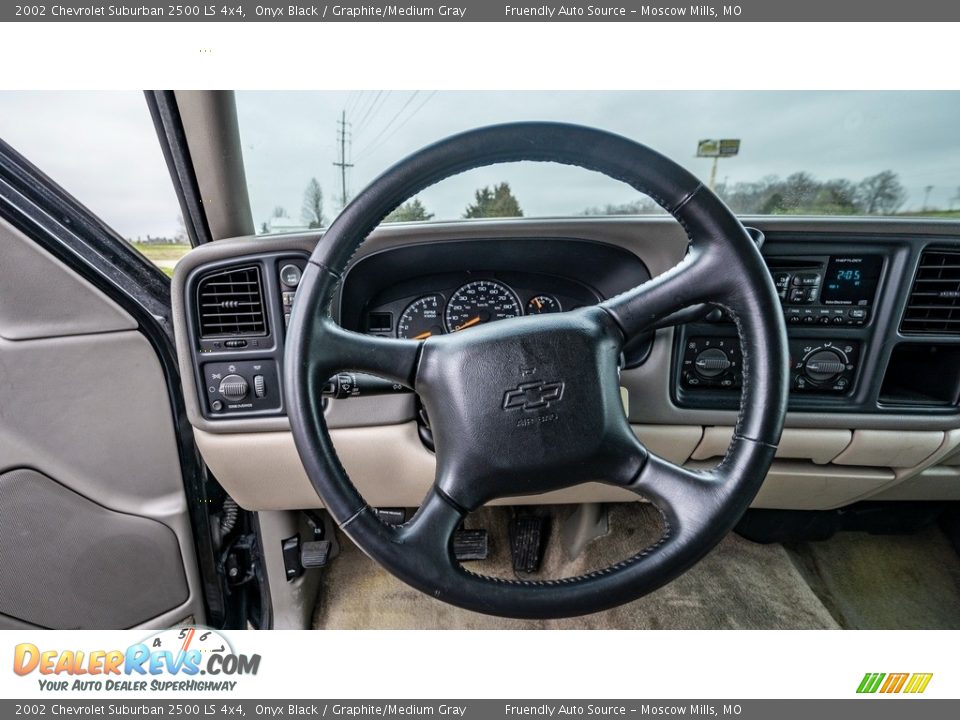
[[[657,537],[656,513],[609,508],[609,532],[574,559],[553,517],[542,571],[568,577],[623,559]],[[469,568],[515,577],[511,510],[487,509],[467,526],[490,531],[491,555]],[[960,559],[935,528],[914,535],[841,533],[823,542],[761,545],[731,534],[686,574],[635,602],[564,620],[510,620],[441,603],[380,569],[353,543],[323,571],[314,627],[326,629],[835,629],[960,628]]]

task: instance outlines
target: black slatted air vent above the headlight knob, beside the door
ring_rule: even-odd
[[[203,338],[266,335],[263,285],[256,265],[205,276],[197,286]]]

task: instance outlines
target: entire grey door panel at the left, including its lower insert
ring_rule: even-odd
[[[0,626],[203,622],[156,353],[3,221],[0,248]]]

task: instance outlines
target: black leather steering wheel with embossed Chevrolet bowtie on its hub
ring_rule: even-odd
[[[451,175],[496,163],[595,170],[652,197],[686,230],[684,260],[592,307],[518,317],[426,341],[351,332],[331,301],[354,252],[394,208]],[[733,440],[713,469],[648,451],[619,390],[621,349],[698,303],[734,318],[743,389]],[[307,475],[342,530],[401,580],[439,600],[516,618],[570,617],[634,600],[690,568],[734,526],[770,468],[783,428],[788,353],[780,303],[760,253],[729,208],[672,160],[578,125],[514,123],[430,145],[383,173],[346,207],[303,274],[286,341],[286,399]],[[340,371],[417,392],[436,446],[434,482],[407,523],[391,526],[360,496],[324,422],[322,389]],[[504,580],[464,569],[452,549],[464,517],[495,498],[601,481],[662,513],[664,531],[633,557],[579,577]]]

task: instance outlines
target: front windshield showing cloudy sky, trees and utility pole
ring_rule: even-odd
[[[407,154],[518,120],[643,142],[741,214],[960,217],[958,92],[239,92],[237,106],[262,234],[322,227]],[[658,212],[596,173],[513,163],[450,178],[387,220]]]

